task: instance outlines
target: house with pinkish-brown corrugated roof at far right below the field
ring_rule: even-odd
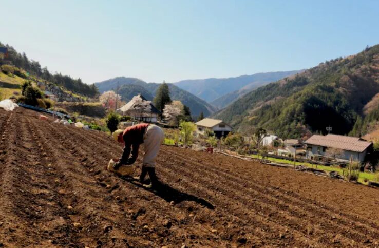
[[[349,161],[352,156],[352,159],[358,162],[365,160],[367,150],[372,146],[372,142],[361,138],[331,134],[313,135],[305,143],[309,159],[326,157]]]

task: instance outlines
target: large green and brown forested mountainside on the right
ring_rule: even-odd
[[[379,45],[347,58],[320,63],[295,77],[262,86],[215,113],[244,131],[264,127],[284,137],[323,132],[359,136],[379,118],[379,109],[364,112],[379,93]],[[376,96],[376,97],[375,97]],[[377,114],[375,113],[377,112]]]

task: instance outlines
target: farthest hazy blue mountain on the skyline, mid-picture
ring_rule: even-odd
[[[247,87],[246,89],[253,89],[270,82],[275,82],[298,72],[299,70],[278,71],[256,73],[253,75],[242,75],[239,77],[224,79],[211,78],[182,80],[174,84],[207,102],[212,102],[224,94],[239,90],[243,87]]]

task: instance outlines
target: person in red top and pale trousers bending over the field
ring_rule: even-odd
[[[143,143],[145,150],[142,171],[138,179],[142,183],[148,174],[151,181],[150,186],[157,186],[159,181],[155,174],[155,159],[164,141],[163,130],[154,124],[141,123],[127,127],[125,130],[116,130],[113,133],[113,138],[117,139],[118,142],[124,142],[121,158],[113,165],[113,168],[117,170],[122,165],[134,164],[138,157],[140,144]]]

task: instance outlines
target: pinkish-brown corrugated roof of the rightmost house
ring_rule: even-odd
[[[361,138],[330,134],[327,136],[313,135],[305,143],[356,152],[363,152],[372,144]]]

